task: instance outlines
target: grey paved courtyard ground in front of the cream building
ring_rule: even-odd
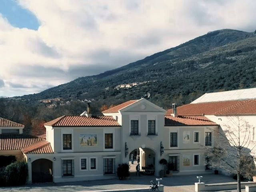
[[[230,177],[214,174],[202,174],[205,183],[234,182]],[[43,183],[30,184],[19,187],[0,188],[1,192],[138,192],[148,191],[150,180],[155,180],[154,176],[131,176],[126,180],[94,180],[83,182],[65,183]],[[193,192],[194,182],[197,182],[196,175],[172,176],[163,178],[165,192]],[[131,191],[132,190],[132,191]],[[235,190],[225,190],[222,192],[235,192]]]

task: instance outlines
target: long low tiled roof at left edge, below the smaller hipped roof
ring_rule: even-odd
[[[21,150],[42,138],[26,134],[0,134],[0,150]]]

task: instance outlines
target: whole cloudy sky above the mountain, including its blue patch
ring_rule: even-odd
[[[0,96],[34,94],[223,28],[255,0],[0,0]]]

